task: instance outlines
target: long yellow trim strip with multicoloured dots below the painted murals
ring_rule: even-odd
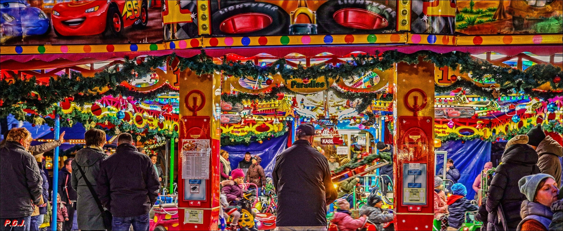
[[[149,44],[2,46],[3,55],[160,51],[197,47],[311,46],[338,44],[430,44],[450,46],[561,44],[563,34],[535,35],[434,35],[434,34],[333,34],[261,37],[213,37]]]

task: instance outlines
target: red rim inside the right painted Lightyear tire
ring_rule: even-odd
[[[374,30],[385,28],[388,23],[381,15],[359,8],[343,8],[334,12],[334,21],[347,28]]]

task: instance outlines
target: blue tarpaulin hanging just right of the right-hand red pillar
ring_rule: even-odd
[[[473,181],[481,171],[486,162],[490,161],[491,156],[491,143],[476,139],[473,141],[466,141],[464,144],[461,141],[448,141],[438,148],[439,151],[447,151],[448,158],[454,160],[454,166],[461,174],[458,183],[465,185],[467,188],[467,198],[473,200],[475,191],[472,188]],[[444,166],[444,159],[437,160],[436,171]],[[441,175],[442,173],[436,173]]]

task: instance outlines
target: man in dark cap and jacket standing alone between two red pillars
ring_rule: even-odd
[[[315,127],[297,127],[297,141],[276,157],[272,172],[278,193],[279,230],[327,230],[327,205],[337,196],[327,158],[311,147]]]

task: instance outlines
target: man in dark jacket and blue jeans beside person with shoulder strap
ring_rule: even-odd
[[[133,137],[121,133],[115,153],[102,161],[97,178],[100,201],[113,215],[112,230],[149,230],[149,210],[157,201],[157,173],[149,156],[137,152]]]

